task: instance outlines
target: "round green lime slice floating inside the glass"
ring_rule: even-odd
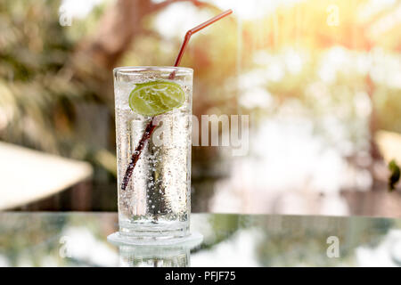
[[[180,107],[185,101],[183,88],[169,81],[137,84],[129,94],[129,107],[143,116],[156,116]]]

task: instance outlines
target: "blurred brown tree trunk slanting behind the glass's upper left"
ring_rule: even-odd
[[[78,45],[64,72],[112,106],[112,77],[121,56],[143,33],[143,18],[155,10],[151,0],[118,0],[106,9],[93,36]]]

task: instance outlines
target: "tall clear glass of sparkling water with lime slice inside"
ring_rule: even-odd
[[[148,240],[185,237],[191,212],[193,70],[121,67],[113,75],[119,235]],[[150,124],[155,127],[143,141]],[[137,151],[141,141],[143,149]]]

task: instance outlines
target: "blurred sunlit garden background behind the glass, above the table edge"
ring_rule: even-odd
[[[3,0],[0,209],[117,210],[111,70],[172,65],[229,8],[181,65],[250,150],[192,147],[192,211],[401,216],[397,0]]]

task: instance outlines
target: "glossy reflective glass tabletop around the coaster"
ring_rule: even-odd
[[[195,248],[117,247],[116,213],[2,212],[0,266],[399,266],[401,219],[192,214]]]

